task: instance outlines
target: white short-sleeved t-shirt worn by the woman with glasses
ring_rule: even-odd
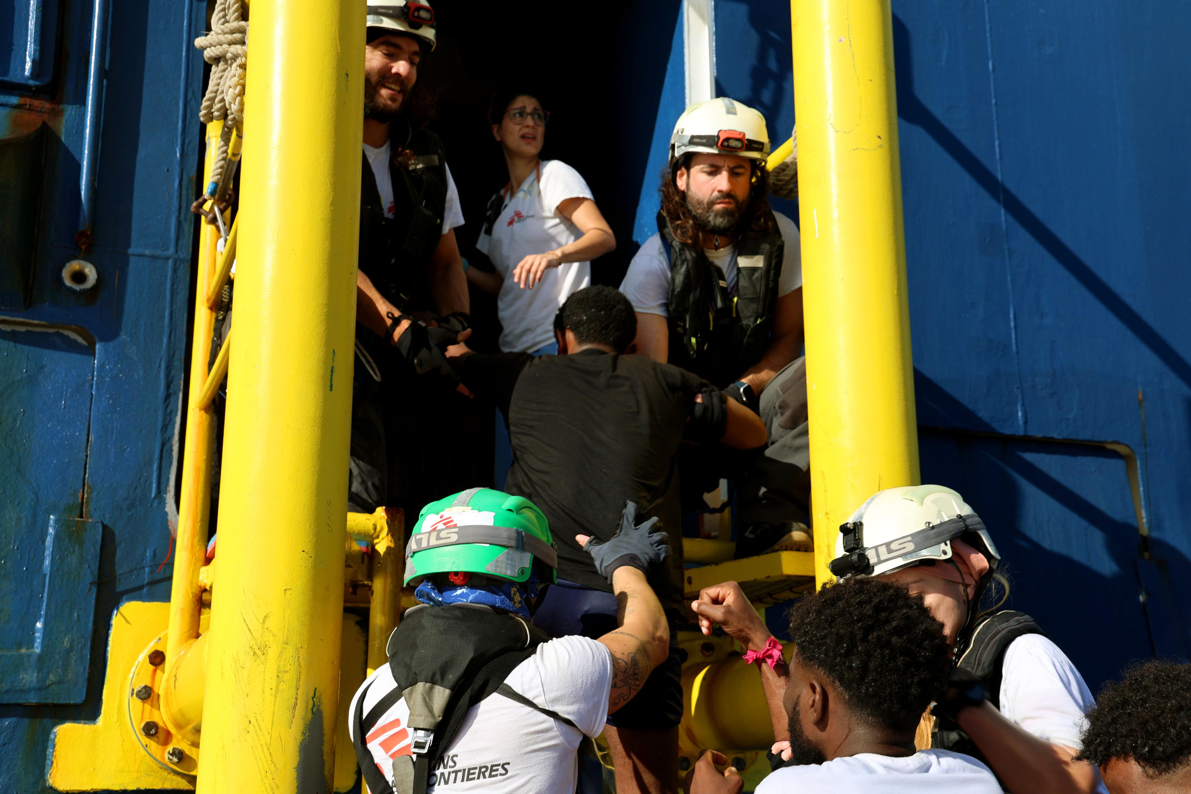
[[[592,192],[579,171],[560,160],[541,163],[525,177],[500,214],[480,232],[475,248],[486,254],[505,280],[497,296],[497,314],[504,331],[500,349],[530,352],[554,342],[554,315],[567,296],[591,283],[591,262],[567,262],[549,268],[534,289],[522,289],[512,280],[513,268],[530,254],[545,254],[582,237],[573,223],[559,214],[567,199],[591,199]]]

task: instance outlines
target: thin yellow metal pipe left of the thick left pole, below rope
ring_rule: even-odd
[[[211,176],[211,164],[219,145],[223,121],[207,125],[207,154],[204,183]],[[199,277],[194,295],[194,336],[191,352],[191,387],[186,401],[186,457],[182,459],[182,487],[179,494],[177,538],[174,549],[174,579],[169,596],[169,630],[166,640],[166,674],[179,652],[199,636],[199,568],[205,562],[207,521],[211,512],[211,456],[214,449],[214,418],[195,411],[194,404],[207,380],[211,336],[216,315],[204,302],[216,263],[219,231],[198,220]]]

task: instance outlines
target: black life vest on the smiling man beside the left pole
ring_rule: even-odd
[[[360,269],[394,306],[422,298],[426,264],[442,238],[447,211],[447,155],[442,142],[426,129],[409,133],[393,123],[389,138],[389,177],[393,217],[385,217],[380,189],[368,156],[360,182]]]

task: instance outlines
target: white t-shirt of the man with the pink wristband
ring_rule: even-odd
[[[822,764],[782,767],[756,794],[1002,794],[989,768],[949,750],[922,750],[904,758],[872,752]]]

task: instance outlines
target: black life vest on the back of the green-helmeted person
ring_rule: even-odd
[[[405,698],[413,755],[393,759],[395,794],[425,794],[430,770],[447,750],[467,711],[492,694],[575,727],[505,683],[518,664],[548,639],[518,615],[486,606],[453,604],[412,607],[388,639],[388,668],[398,686],[363,712],[367,689],[356,699],[353,744],[373,794],[394,794],[373,761],[366,737],[381,717]],[[432,737],[432,738],[431,738]],[[428,742],[429,739],[429,742]]]

